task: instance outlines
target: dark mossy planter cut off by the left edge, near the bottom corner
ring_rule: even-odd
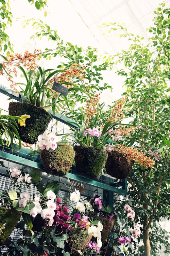
[[[0,207],[0,244],[10,236],[21,215],[22,212]]]

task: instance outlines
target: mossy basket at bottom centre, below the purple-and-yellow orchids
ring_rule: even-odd
[[[84,228],[72,227],[68,234],[69,239],[66,244],[66,250],[72,256],[78,256],[83,253],[87,248],[87,243],[92,238],[92,235],[88,235],[88,230]]]

